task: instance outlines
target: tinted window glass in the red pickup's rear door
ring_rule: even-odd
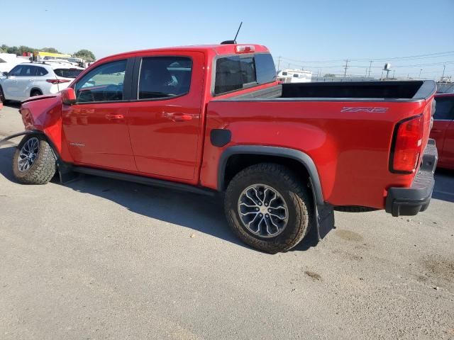
[[[183,96],[191,85],[189,57],[149,57],[140,64],[138,99]]]

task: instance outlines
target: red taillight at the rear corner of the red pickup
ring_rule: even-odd
[[[394,130],[389,170],[411,174],[417,166],[423,140],[423,115],[402,120]]]

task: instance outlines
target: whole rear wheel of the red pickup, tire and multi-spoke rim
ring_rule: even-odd
[[[286,166],[271,163],[240,171],[228,185],[224,209],[243,242],[272,254],[303,239],[313,210],[304,182]]]

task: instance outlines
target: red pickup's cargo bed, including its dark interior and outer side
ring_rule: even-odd
[[[230,130],[233,145],[298,149],[314,160],[328,203],[382,209],[387,188],[414,179],[389,171],[394,128],[424,113],[426,145],[435,91],[434,81],[279,84],[209,102],[206,130]],[[204,159],[216,152],[206,147]]]

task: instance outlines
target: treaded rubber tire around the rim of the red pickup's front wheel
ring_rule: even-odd
[[[23,145],[32,137],[38,138],[39,149],[35,161],[26,171],[19,171],[18,157]],[[55,175],[55,154],[45,137],[41,135],[26,135],[16,148],[13,156],[13,175],[17,181],[24,184],[45,184]]]

